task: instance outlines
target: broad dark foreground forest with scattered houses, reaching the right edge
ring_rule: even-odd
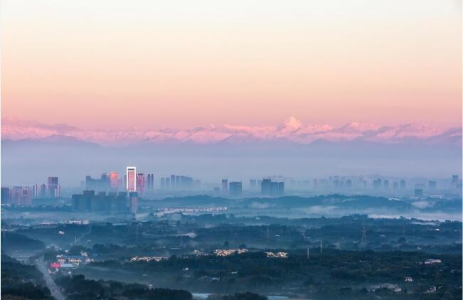
[[[312,249],[312,252],[309,259],[299,250],[289,252],[288,258],[247,252],[228,257],[171,257],[160,262],[93,262],[80,272],[88,276],[129,277],[131,281],[154,286],[217,293],[280,294],[283,291],[320,298],[327,292],[339,296],[347,290],[360,292],[364,288],[382,291],[380,286],[388,286],[391,291],[400,287],[403,291],[393,292],[395,296],[408,292],[427,295],[431,286],[437,286],[440,291],[434,295],[443,293],[457,297],[462,293],[461,255],[339,250],[324,250],[320,254],[319,249]],[[442,262],[423,263],[430,258],[442,259]],[[413,278],[413,282],[405,282],[406,277]],[[435,299],[440,298],[436,296]]]

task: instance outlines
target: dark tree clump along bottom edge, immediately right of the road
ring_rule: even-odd
[[[85,279],[83,275],[60,277],[56,284],[63,286],[69,300],[93,299],[156,299],[190,300],[188,291],[171,289],[149,289],[142,284],[122,284],[114,281]]]

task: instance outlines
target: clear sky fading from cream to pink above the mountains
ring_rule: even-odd
[[[457,0],[4,0],[1,117],[462,123]]]

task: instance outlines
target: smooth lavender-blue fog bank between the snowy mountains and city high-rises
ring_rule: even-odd
[[[284,176],[317,178],[332,175],[380,174],[405,178],[449,178],[460,173],[461,146],[370,141],[260,141],[242,144],[132,144],[100,146],[70,137],[47,140],[4,140],[1,180],[6,186],[31,185],[59,176],[63,186],[80,186],[85,176],[124,173],[126,166],[159,178],[183,173],[205,182],[220,178]]]

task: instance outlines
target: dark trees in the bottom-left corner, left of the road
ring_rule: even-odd
[[[2,245],[4,245],[2,243]],[[1,255],[1,299],[53,299],[41,272]]]

